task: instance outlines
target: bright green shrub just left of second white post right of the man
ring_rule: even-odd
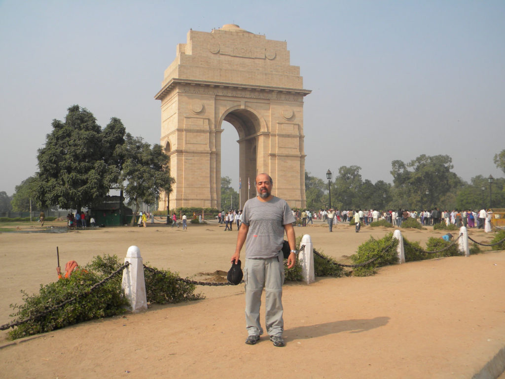
[[[370,276],[375,273],[375,268],[397,262],[396,245],[398,241],[393,239],[393,233],[385,235],[380,240],[370,237],[370,240],[360,245],[358,252],[351,255],[355,264],[364,263],[372,258],[377,259],[365,266],[357,267],[352,271],[355,276]]]

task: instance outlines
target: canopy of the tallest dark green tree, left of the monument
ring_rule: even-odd
[[[111,186],[104,159],[102,129],[91,112],[78,105],[65,121],[53,120],[53,131],[38,150],[32,195],[39,206],[81,209],[104,198]]]

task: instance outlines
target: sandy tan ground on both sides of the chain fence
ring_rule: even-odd
[[[38,224],[37,224],[38,225]],[[47,224],[46,224],[47,225]],[[49,223],[48,225],[51,225]],[[32,230],[38,227],[29,228]],[[20,290],[56,280],[60,262],[140,248],[144,263],[194,276],[227,271],[236,230],[148,224],[69,233],[0,233],[0,323]],[[296,227],[341,262],[385,228]],[[424,246],[444,233],[403,230]],[[491,233],[471,230],[477,241]],[[197,277],[201,279],[201,277]],[[152,306],[17,341],[0,332],[2,378],[470,378],[505,346],[505,252],[393,265],[372,277],[317,278],[284,287],[284,337],[244,344],[243,285],[198,287],[205,300]],[[263,309],[262,309],[263,311]],[[262,314],[262,320],[264,314]]]

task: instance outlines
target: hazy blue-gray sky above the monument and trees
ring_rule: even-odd
[[[287,41],[312,90],[312,175],[358,165],[363,179],[392,182],[391,161],[447,154],[464,180],[502,177],[504,20],[502,0],[0,0],[0,191],[37,171],[52,120],[74,104],[159,143],[154,96],[177,43],[228,23]],[[228,125],[222,137],[233,147],[222,174],[238,188],[238,135]]]

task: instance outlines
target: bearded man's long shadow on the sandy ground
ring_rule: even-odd
[[[309,338],[327,336],[329,334],[350,331],[350,333],[361,333],[384,326],[388,323],[389,317],[374,317],[372,319],[341,320],[325,322],[324,324],[297,326],[284,331],[289,340],[307,340]]]

